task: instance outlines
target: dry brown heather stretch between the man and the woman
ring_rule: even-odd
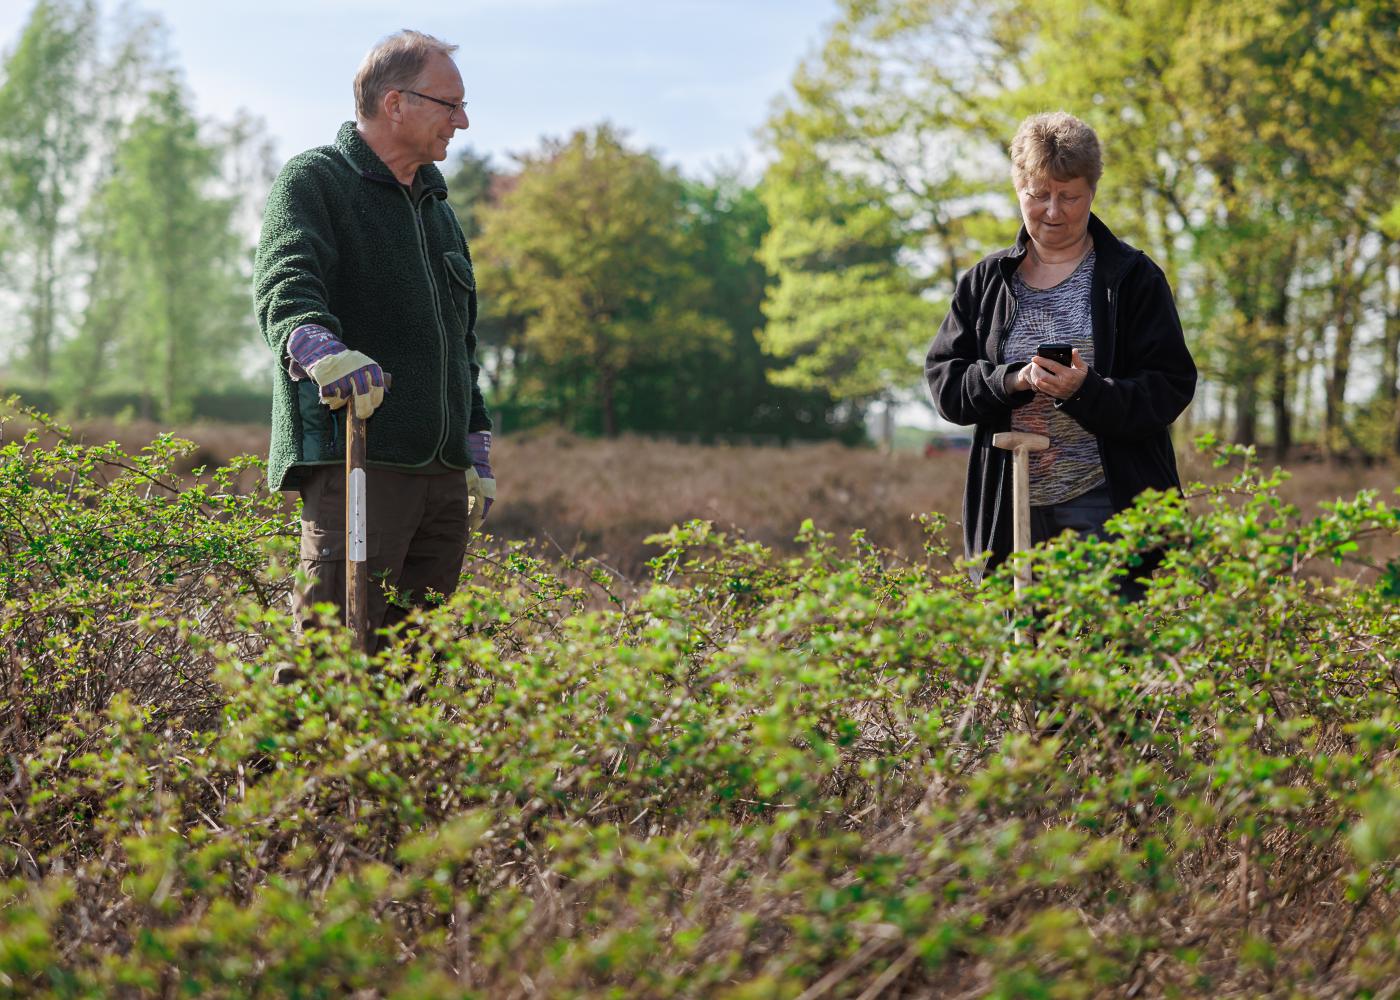
[[[932,459],[834,443],[778,447],[612,441],[564,434],[503,437],[493,454],[500,503],[491,531],[553,539],[636,576],[657,549],[647,535],[692,518],[741,528],[780,550],[811,518],[839,538],[864,529],[918,552],[918,514],[962,507],[965,455]]]

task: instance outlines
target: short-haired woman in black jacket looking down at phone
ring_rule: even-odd
[[[958,282],[924,374],[945,419],[976,424],[963,494],[967,556],[1011,555],[1011,452],[993,434],[1033,431],[1032,541],[1103,522],[1145,489],[1180,487],[1168,426],[1191,401],[1196,364],[1166,276],[1091,211],[1103,172],[1093,129],[1033,115],[1011,143],[1021,204],[1015,246]],[[1071,364],[1042,357],[1070,343]]]

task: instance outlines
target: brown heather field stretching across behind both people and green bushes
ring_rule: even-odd
[[[116,440],[137,448],[168,430],[151,423],[88,423],[76,427],[88,443]],[[234,455],[266,457],[267,430],[259,426],[192,426],[176,433],[197,447],[189,466],[217,465]],[[1183,436],[1177,436],[1182,438]],[[1219,482],[1215,469],[1189,443],[1177,441],[1183,480]],[[1270,465],[1264,462],[1266,468]],[[561,431],[497,437],[493,466],[500,496],[489,529],[504,541],[529,541],[545,555],[594,556],[637,580],[657,553],[651,534],[690,518],[739,528],[778,550],[792,550],[804,518],[847,538],[864,528],[879,545],[906,555],[920,552],[918,514],[948,517],[948,538],[960,550],[958,520],[966,452],[924,458],[918,452],[882,454],[834,443],[791,447],[679,444],[645,437],[612,441]],[[1392,493],[1396,465],[1296,462],[1280,490],[1305,513],[1320,501],[1352,497],[1361,489]],[[256,479],[249,473],[245,485]],[[1392,553],[1385,553],[1386,557]]]

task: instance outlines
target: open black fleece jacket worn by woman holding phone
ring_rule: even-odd
[[[1099,443],[1114,510],[1145,489],[1180,487],[1169,424],[1196,392],[1196,364],[1166,276],[1142,251],[1089,216],[1095,265],[1093,366],[1079,392],[1057,403]],[[991,438],[1011,430],[1011,412],[1033,392],[1005,389],[1002,342],[1016,315],[1011,277],[1026,254],[1022,227],[1015,246],[980,261],[958,282],[952,308],[928,349],[924,377],[938,412],[976,424],[963,493],[967,556],[990,552],[983,571],[1011,555],[1011,452]],[[977,573],[980,577],[981,573]]]

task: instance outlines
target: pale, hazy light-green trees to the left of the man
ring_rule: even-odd
[[[196,120],[164,42],[151,15],[39,0],[4,64],[0,270],[25,319],[4,333],[15,374],[74,413],[188,419],[256,381],[235,359],[269,151],[246,115]]]

